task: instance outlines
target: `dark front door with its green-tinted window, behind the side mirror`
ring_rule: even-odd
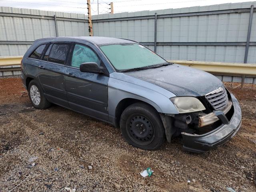
[[[80,64],[102,62],[96,52],[84,44],[74,44],[65,84],[70,108],[89,116],[108,121],[108,79],[104,74],[81,72]]]

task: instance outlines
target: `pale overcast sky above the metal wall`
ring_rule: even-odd
[[[248,2],[248,0],[91,0],[90,2],[92,15],[95,15],[98,14],[98,6],[99,14],[108,14],[110,2],[114,4],[114,13],[119,13]],[[87,14],[86,3],[87,0],[0,0],[0,6],[82,14]]]

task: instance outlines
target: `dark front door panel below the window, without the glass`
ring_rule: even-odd
[[[70,108],[83,114],[108,121],[108,79],[102,74],[80,72],[67,67],[66,93]]]

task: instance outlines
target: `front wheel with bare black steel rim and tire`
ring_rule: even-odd
[[[158,112],[142,102],[124,110],[120,128],[126,142],[137,148],[156,150],[164,142],[164,126]]]

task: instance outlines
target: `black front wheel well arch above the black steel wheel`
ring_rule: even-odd
[[[137,103],[137,102],[142,102],[142,103],[145,103],[149,106],[151,106],[152,108],[154,108],[152,105],[142,101],[142,100],[138,100],[138,99],[133,99],[133,98],[126,98],[126,99],[123,99],[121,100],[117,107],[116,107],[116,117],[115,117],[115,126],[116,127],[119,127],[120,125],[120,118],[121,118],[121,115],[123,113],[123,111],[130,105],[134,104],[134,103]],[[155,108],[154,108],[155,109]]]

